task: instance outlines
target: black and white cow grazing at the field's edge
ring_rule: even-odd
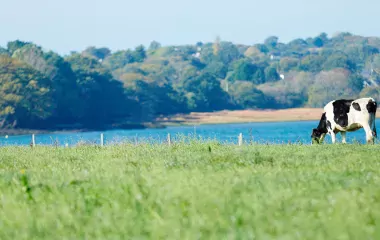
[[[374,143],[376,134],[377,103],[373,98],[354,100],[333,100],[325,105],[317,128],[311,134],[312,143],[322,143],[326,134],[330,134],[335,143],[335,135],[340,132],[342,142],[346,143],[346,132],[363,128],[367,143]]]

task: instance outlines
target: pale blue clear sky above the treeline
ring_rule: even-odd
[[[60,54],[213,41],[281,42],[326,32],[380,36],[380,0],[4,0],[0,46],[20,39]]]

